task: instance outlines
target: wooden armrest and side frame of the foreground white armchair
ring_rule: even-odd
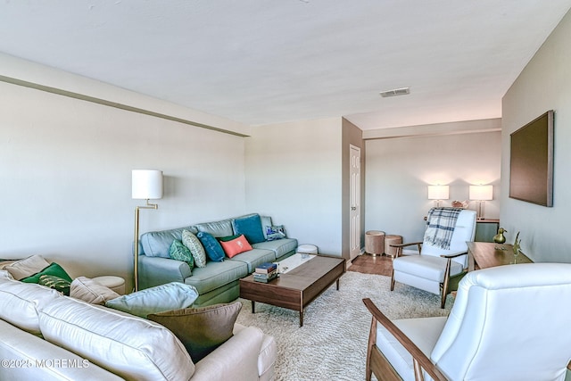
[[[377,322],[383,325],[391,335],[396,338],[399,343],[412,356],[414,364],[414,377],[417,381],[424,381],[423,370],[432,377],[435,381],[448,381],[443,373],[436,368],[432,361],[426,356],[425,353],[420,351],[418,346],[410,340],[407,335],[396,327],[393,322],[388,319],[383,312],[377,309],[375,303],[370,299],[363,299],[363,303],[368,311],[373,315],[371,320],[371,328],[368,333],[368,347],[367,347],[367,367],[365,370],[365,379],[371,380],[371,375],[374,373],[379,381],[402,381],[402,378],[394,370],[391,363],[386,360],[385,355],[377,348]]]

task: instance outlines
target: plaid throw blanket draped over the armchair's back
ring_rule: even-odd
[[[428,211],[424,242],[449,250],[460,211],[461,208],[432,208]]]

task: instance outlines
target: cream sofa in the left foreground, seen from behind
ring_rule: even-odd
[[[272,380],[274,338],[235,325],[195,364],[166,327],[0,270],[0,379]]]

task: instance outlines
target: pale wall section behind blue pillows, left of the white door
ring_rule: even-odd
[[[300,244],[342,253],[342,119],[252,128],[246,206],[285,225]]]

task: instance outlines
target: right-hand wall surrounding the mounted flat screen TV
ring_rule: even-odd
[[[503,97],[501,220],[520,231],[534,261],[571,261],[571,13],[567,13]],[[509,198],[509,134],[543,112],[555,111],[553,207]],[[508,237],[513,241],[515,234]],[[510,242],[511,243],[511,242]]]

